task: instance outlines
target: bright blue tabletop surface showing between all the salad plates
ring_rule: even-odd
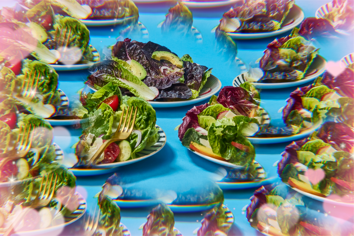
[[[329,0],[296,0],[296,4],[300,6],[305,17],[314,17],[315,11]],[[212,74],[220,79],[222,85],[232,85],[232,80],[240,74],[238,66],[225,59],[224,55],[220,55],[215,51],[215,34],[211,30],[218,25],[222,14],[229,9],[230,6],[209,8],[209,9],[190,9],[193,12],[193,26],[199,30],[202,35],[202,42],[196,42],[194,38],[177,38],[163,37],[158,24],[165,19],[168,8],[172,6],[172,2],[160,4],[137,4],[139,7],[139,21],[147,28],[148,38],[143,38],[143,34],[138,33],[132,35],[133,40],[147,42],[152,41],[168,47],[171,51],[179,56],[189,54],[193,60],[201,65],[212,67]],[[89,28],[91,32],[91,44],[98,51],[102,51],[105,46],[113,45],[119,36],[115,27],[97,27]],[[287,32],[277,37],[282,37]],[[145,35],[146,36],[146,35]],[[238,47],[238,57],[248,65],[251,61],[255,61],[262,57],[263,51],[267,44],[275,37],[269,37],[259,40],[235,40]],[[344,37],[343,39],[319,40],[314,44],[320,47],[319,54],[328,61],[338,61],[343,56],[354,51],[353,37]],[[86,70],[60,72],[59,88],[62,89],[69,97],[77,98],[77,92],[84,87],[84,80],[88,72]],[[307,84],[304,84],[307,85]],[[281,124],[281,113],[278,110],[285,105],[285,100],[289,94],[295,90],[295,87],[285,89],[269,89],[262,90],[261,99],[262,107],[268,111],[272,118],[272,124]],[[200,105],[207,102],[199,102]],[[167,143],[165,147],[156,155],[135,164],[122,166],[117,172],[122,176],[138,176],[142,181],[149,180],[149,188],[159,188],[162,182],[168,182],[171,189],[179,185],[180,181],[185,184],[198,183],[203,179],[212,179],[213,173],[221,166],[205,160],[198,155],[190,152],[182,146],[177,137],[177,131],[174,128],[181,124],[182,117],[194,105],[172,108],[156,108],[156,117],[158,124],[166,133]],[[74,149],[70,148],[81,135],[81,129],[73,129],[70,126],[55,127],[55,142],[64,150],[65,154],[73,153]],[[268,171],[268,175],[276,175],[276,167],[273,163],[280,159],[280,153],[284,151],[284,147],[288,143],[255,145],[256,160],[261,163]],[[96,204],[97,199],[93,198],[102,188],[105,180],[113,173],[77,177],[78,191],[87,199],[88,209],[92,204]],[[224,191],[224,204],[233,212],[235,223],[229,235],[251,236],[260,235],[247,222],[245,214],[241,209],[250,203],[249,198],[255,189],[245,190],[229,190]],[[134,208],[121,209],[121,222],[127,226],[133,236],[142,235],[142,231],[138,230],[139,226],[146,222],[151,208]],[[184,236],[193,235],[193,231],[200,226],[200,221],[204,218],[205,212],[197,212],[190,214],[175,213],[175,227],[182,232]]]

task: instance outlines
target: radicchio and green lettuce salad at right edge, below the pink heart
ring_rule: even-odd
[[[282,110],[284,123],[299,131],[330,118],[353,126],[353,78],[348,68],[336,77],[326,71],[314,84],[297,88]]]

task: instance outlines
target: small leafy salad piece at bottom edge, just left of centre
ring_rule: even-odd
[[[177,230],[174,229],[175,218],[173,212],[165,204],[159,204],[147,217],[147,222],[143,225],[143,236],[175,236]]]

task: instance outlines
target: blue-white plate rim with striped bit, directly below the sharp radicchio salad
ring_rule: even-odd
[[[258,178],[264,178],[266,173],[263,167],[254,160],[253,163],[258,164]],[[246,189],[246,188],[256,188],[262,185],[272,184],[278,179],[278,176],[272,176],[269,178],[259,179],[256,181],[245,181],[245,182],[216,182],[221,189]]]

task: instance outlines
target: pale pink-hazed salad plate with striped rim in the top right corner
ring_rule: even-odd
[[[318,8],[315,17],[327,19],[338,33],[347,34],[353,30],[353,7],[350,0],[333,0]]]

